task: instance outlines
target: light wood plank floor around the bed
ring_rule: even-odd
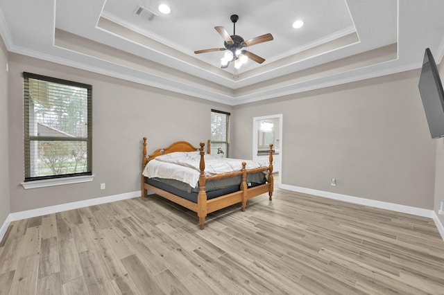
[[[12,222],[0,294],[444,294],[427,218],[275,190],[197,224],[160,197]]]

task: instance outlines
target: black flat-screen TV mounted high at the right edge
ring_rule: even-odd
[[[429,48],[425,49],[419,79],[419,92],[432,138],[444,136],[444,91],[438,67]]]

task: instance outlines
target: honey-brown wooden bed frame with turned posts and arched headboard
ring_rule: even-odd
[[[175,202],[176,204],[179,204],[181,206],[184,206],[185,208],[188,208],[191,211],[196,212],[199,217],[200,229],[205,229],[205,217],[207,216],[207,214],[217,211],[221,208],[225,208],[241,202],[242,203],[241,210],[245,211],[248,199],[251,199],[252,197],[256,197],[258,195],[262,195],[264,193],[268,193],[269,199],[271,200],[271,197],[273,195],[273,145],[272,144],[270,145],[270,165],[268,167],[247,170],[246,163],[242,162],[242,170],[239,172],[229,172],[219,175],[205,176],[205,160],[203,157],[203,155],[205,154],[204,152],[205,143],[200,143],[200,147],[197,148],[191,145],[190,143],[187,143],[186,141],[178,141],[176,143],[173,143],[169,147],[159,148],[155,150],[153,154],[150,154],[148,155],[148,157],[146,157],[146,137],[144,137],[143,140],[144,140],[144,150],[143,150],[144,157],[142,158],[142,171],[144,170],[146,163],[148,163],[149,160],[152,160],[161,154],[169,154],[170,152],[194,152],[196,150],[199,150],[200,177],[199,177],[199,193],[197,198],[197,204],[182,197],[178,197],[177,195],[173,195],[172,193],[169,193],[160,188],[156,188],[155,186],[151,186],[150,184],[146,184],[144,175],[142,175],[142,197],[147,197],[148,190],[150,190],[151,192],[157,195],[160,195],[166,199],[169,199],[172,202]],[[210,141],[208,141],[208,143],[209,144],[207,152],[210,153]],[[266,170],[268,170],[269,172],[268,181],[266,182],[266,184],[248,188],[246,183],[247,174],[262,172]],[[205,192],[206,181],[235,177],[238,175],[241,175],[242,177],[239,191],[207,200],[207,193]]]

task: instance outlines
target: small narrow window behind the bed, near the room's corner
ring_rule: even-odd
[[[228,157],[230,152],[230,113],[211,110],[211,153]]]

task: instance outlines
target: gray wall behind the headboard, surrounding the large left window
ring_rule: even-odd
[[[143,136],[148,136],[148,152],[179,140],[198,146],[210,136],[211,109],[232,111],[216,102],[15,53],[9,54],[9,66],[11,212],[140,190]],[[92,84],[94,181],[29,190],[20,185],[24,180],[23,71]],[[101,183],[106,184],[105,190],[100,190]]]

